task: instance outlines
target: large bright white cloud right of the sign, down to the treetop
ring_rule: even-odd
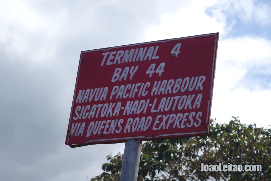
[[[259,37],[238,37],[219,42],[212,118],[219,122],[239,116],[241,121],[266,127],[271,101],[271,42]],[[264,67],[259,71],[257,67]],[[254,72],[250,72],[256,68]],[[258,70],[258,72],[257,72]],[[261,79],[255,75],[261,74]],[[248,76],[250,75],[250,76]],[[269,79],[267,79],[269,80]]]

